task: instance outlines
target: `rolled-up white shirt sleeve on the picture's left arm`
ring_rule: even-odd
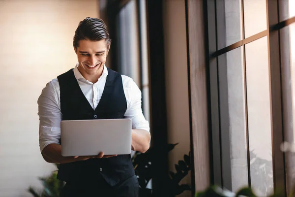
[[[38,99],[39,147],[41,152],[49,144],[59,144],[62,114],[54,82],[57,81],[46,84]]]

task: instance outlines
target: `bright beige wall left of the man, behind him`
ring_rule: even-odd
[[[96,0],[0,1],[0,197],[31,197],[55,167],[39,150],[37,99],[77,61],[79,21],[98,17]]]

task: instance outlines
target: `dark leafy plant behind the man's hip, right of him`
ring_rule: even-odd
[[[164,146],[163,152],[169,152],[177,144],[167,144]],[[138,182],[140,185],[140,197],[151,197],[152,189],[147,188],[148,182],[153,176],[152,171],[152,157],[155,152],[153,148],[150,148],[146,153],[136,152],[132,157],[133,166],[135,169],[135,174],[138,177]],[[189,154],[190,155],[190,154]],[[179,182],[188,174],[191,170],[190,156],[184,155],[183,160],[179,160],[178,164],[175,164],[176,172],[169,172],[169,177],[164,183],[163,191],[165,191],[165,197],[175,197],[184,191],[191,191],[191,187],[187,184],[179,184]]]

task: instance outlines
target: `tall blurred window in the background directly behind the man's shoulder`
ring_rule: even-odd
[[[137,15],[138,14],[138,15]],[[119,72],[131,77],[142,91],[149,121],[148,38],[145,0],[129,0],[118,13]]]

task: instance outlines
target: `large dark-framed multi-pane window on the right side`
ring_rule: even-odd
[[[207,0],[207,14],[213,182],[289,193],[295,156],[279,145],[295,141],[295,2]]]

